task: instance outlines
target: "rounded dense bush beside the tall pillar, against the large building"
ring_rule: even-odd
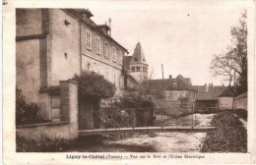
[[[80,98],[101,98],[112,97],[115,93],[115,85],[106,81],[103,76],[96,73],[83,72],[80,76],[75,75],[73,80],[78,82]]]

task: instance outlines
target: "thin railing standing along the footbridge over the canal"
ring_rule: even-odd
[[[198,124],[196,114],[176,115],[172,108],[103,108],[98,113],[99,119],[94,122],[99,130],[166,126],[193,128]]]

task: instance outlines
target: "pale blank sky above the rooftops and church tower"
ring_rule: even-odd
[[[153,79],[191,78],[194,85],[222,84],[213,77],[214,54],[230,43],[230,27],[238,24],[241,1],[94,1],[88,4],[96,24],[111,18],[111,36],[132,55],[138,41]]]

